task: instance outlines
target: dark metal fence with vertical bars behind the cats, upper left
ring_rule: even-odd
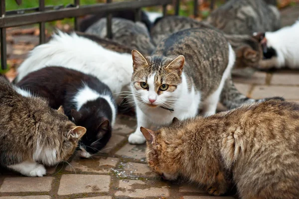
[[[211,0],[211,9],[213,9],[214,1]],[[15,0],[17,4],[21,4],[22,0]],[[39,42],[45,42],[45,22],[55,21],[63,18],[75,18],[75,30],[78,30],[79,24],[77,17],[96,14],[99,12],[112,12],[118,10],[134,9],[135,19],[141,19],[141,8],[148,6],[162,6],[163,15],[166,14],[168,4],[174,4],[175,14],[178,15],[180,0],[132,0],[122,2],[112,2],[106,0],[106,3],[96,3],[92,5],[80,5],[80,0],[74,0],[74,3],[68,5],[47,5],[45,0],[39,0],[38,7],[5,10],[5,0],[0,3],[0,44],[1,44],[1,68],[6,69],[6,28],[14,26],[22,26],[28,24],[39,23]],[[198,15],[198,0],[194,0],[194,15]],[[111,19],[112,15],[107,16],[107,35],[111,37]]]

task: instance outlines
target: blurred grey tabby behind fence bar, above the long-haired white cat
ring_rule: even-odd
[[[102,18],[92,24],[86,33],[107,37],[107,19]],[[133,22],[123,18],[112,18],[112,40],[131,50],[138,49],[146,55],[154,50],[147,27],[141,22]]]

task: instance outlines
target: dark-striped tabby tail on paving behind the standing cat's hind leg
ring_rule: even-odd
[[[252,99],[240,93],[235,87],[232,78],[229,77],[224,84],[222,93],[220,95],[220,102],[228,109],[233,109],[242,104],[250,104],[253,102],[263,102],[269,99],[276,99],[285,101],[283,97],[269,97],[264,99]]]

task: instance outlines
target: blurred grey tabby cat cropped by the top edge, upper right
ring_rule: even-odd
[[[252,35],[281,27],[279,10],[263,0],[229,0],[214,10],[207,22],[226,34]]]

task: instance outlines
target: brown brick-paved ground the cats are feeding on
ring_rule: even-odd
[[[287,13],[295,12],[290,9],[282,13],[285,23],[292,24],[299,12],[291,19]],[[16,38],[21,43],[28,39]],[[34,45],[37,41],[34,39]],[[10,59],[23,59],[22,52],[33,45],[16,47]],[[248,97],[282,96],[299,102],[299,71],[258,71],[251,78],[236,77],[234,81]],[[186,182],[161,181],[147,166],[145,145],[128,143],[128,135],[135,127],[135,117],[119,115],[112,138],[100,155],[92,159],[75,157],[70,164],[48,168],[45,177],[22,177],[0,170],[0,199],[234,199],[210,197],[197,185]]]

